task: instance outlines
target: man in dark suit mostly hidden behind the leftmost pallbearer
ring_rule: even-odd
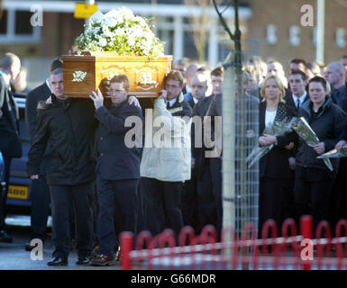
[[[50,65],[50,72],[56,68],[62,68],[63,64],[59,58],[53,60]],[[31,141],[35,135],[37,127],[37,105],[41,101],[46,101],[50,97],[50,78],[44,83],[30,91],[25,101],[25,122],[30,134]],[[48,151],[46,151],[46,154]],[[31,184],[31,238],[40,238],[42,242],[45,240],[44,232],[47,228],[47,220],[50,213],[50,188],[45,179],[46,161],[42,161],[40,166],[39,179],[32,180]],[[25,245],[27,251],[31,251],[33,246]]]

